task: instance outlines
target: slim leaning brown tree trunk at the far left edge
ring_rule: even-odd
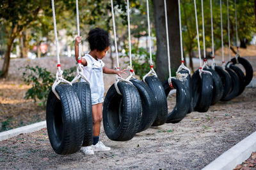
[[[11,55],[11,49],[13,45],[13,41],[15,39],[15,36],[12,36],[12,38],[9,39],[7,43],[7,50],[4,55],[4,63],[2,67],[2,73],[0,74],[0,78],[6,78],[8,75],[9,65],[10,65],[10,55]]]

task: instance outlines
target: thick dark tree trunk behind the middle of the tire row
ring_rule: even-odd
[[[154,17],[157,38],[156,72],[159,80],[169,77],[166,46],[166,29],[164,17],[164,2],[153,0]],[[170,60],[172,74],[175,74],[180,65],[180,36],[179,36],[179,6],[177,0],[166,1],[168,16],[168,34],[170,45]]]

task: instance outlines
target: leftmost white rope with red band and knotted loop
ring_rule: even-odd
[[[72,83],[70,83],[70,81],[67,81],[62,77],[63,71],[61,70],[61,67],[60,67],[59,43],[58,43],[58,34],[57,34],[57,27],[56,27],[54,0],[52,0],[51,2],[52,2],[52,18],[53,18],[53,26],[54,26],[54,36],[55,36],[55,44],[56,44],[56,55],[57,55],[57,62],[58,62],[57,63],[56,80],[54,81],[54,83],[52,85],[52,92],[60,100],[60,96],[55,90],[56,86],[60,83],[68,83],[69,85],[72,85]]]

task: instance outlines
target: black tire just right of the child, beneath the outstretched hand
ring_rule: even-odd
[[[134,137],[140,127],[141,100],[134,85],[118,82],[120,96],[112,85],[103,104],[104,131],[113,141],[128,141]]]

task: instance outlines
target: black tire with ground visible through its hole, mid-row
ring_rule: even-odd
[[[173,110],[168,114],[166,123],[176,124],[180,122],[184,117],[186,117],[188,110],[190,108],[190,92],[189,87],[186,84],[187,80],[180,81],[176,78],[172,78],[173,88],[177,90],[176,92],[176,104]],[[163,83],[164,91],[170,92],[171,88],[168,80]]]

